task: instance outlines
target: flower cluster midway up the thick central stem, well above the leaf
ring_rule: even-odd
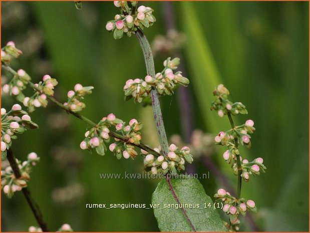
[[[134,98],[135,102],[141,103],[143,98],[149,97],[152,88],[158,95],[172,95],[176,85],[187,86],[189,80],[182,76],[182,72],[173,73],[180,63],[179,58],[168,58],[164,61],[164,70],[157,73],[155,78],[147,75],[145,79],[129,79],[124,86],[126,99]]]

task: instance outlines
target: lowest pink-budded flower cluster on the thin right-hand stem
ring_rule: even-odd
[[[230,230],[238,230],[240,220],[238,219],[238,215],[242,216],[246,215],[246,211],[256,212],[255,202],[252,200],[246,200],[244,198],[237,199],[230,195],[229,192],[226,192],[225,189],[218,189],[217,193],[214,195],[217,200],[223,201],[222,210],[229,215],[230,224],[226,226],[229,227]]]

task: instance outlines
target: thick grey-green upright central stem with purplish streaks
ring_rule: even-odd
[[[136,37],[139,40],[139,43],[140,43],[140,46],[141,46],[141,49],[144,55],[147,75],[150,75],[153,78],[155,78],[154,60],[153,60],[153,54],[152,54],[150,44],[147,38],[145,37],[145,35],[140,30],[136,32]],[[159,143],[163,151],[163,154],[164,156],[167,156],[169,152],[169,145],[168,145],[167,135],[165,131],[163,116],[162,116],[161,109],[160,109],[158,95],[155,89],[151,90],[151,99],[152,99],[153,115],[154,115],[154,120],[156,124],[156,129],[157,129],[157,136],[158,136]]]

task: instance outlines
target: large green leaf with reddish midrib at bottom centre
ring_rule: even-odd
[[[196,231],[226,231],[213,202],[206,195],[201,183],[196,178],[170,179],[171,185],[181,204],[192,204],[192,208],[184,208],[188,219]],[[204,208],[211,203],[211,208]],[[168,183],[162,179],[152,196],[154,214],[161,231],[193,231],[181,208],[169,206],[177,204]],[[154,206],[154,205],[159,206]],[[199,205],[199,207],[198,207]],[[166,206],[166,208],[165,208]]]

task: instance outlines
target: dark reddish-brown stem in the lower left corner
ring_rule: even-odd
[[[16,162],[16,158],[13,154],[13,151],[11,149],[9,149],[7,152],[8,152],[7,158],[8,158],[8,161],[9,161],[11,167],[12,167],[14,176],[16,179],[19,179],[22,176],[22,174],[21,174],[21,170],[20,170],[20,168]],[[24,194],[33,214],[35,215],[37,222],[40,225],[41,229],[43,231],[49,231],[46,222],[43,220],[43,214],[39,208],[39,205],[36,203],[35,199],[31,196],[29,189],[27,187],[25,187],[22,189],[22,191],[23,191],[23,194]]]

